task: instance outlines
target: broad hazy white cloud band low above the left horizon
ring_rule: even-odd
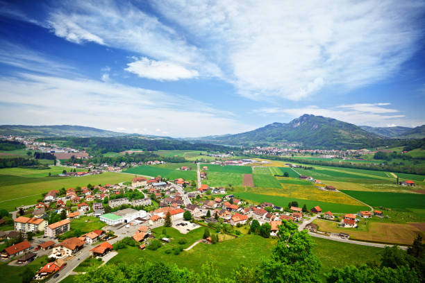
[[[172,137],[251,129],[191,98],[113,82],[18,74],[0,77],[0,89],[0,123],[6,124],[74,124]]]

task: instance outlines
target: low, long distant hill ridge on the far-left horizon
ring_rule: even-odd
[[[1,125],[0,135],[26,135],[34,137],[119,137],[127,134],[122,132],[113,132],[110,130],[70,125]]]

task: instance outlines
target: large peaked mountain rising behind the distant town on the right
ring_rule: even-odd
[[[385,139],[351,123],[304,114],[290,123],[271,123],[263,128],[222,137],[202,137],[202,141],[228,145],[299,142],[323,148],[365,148],[385,144]]]

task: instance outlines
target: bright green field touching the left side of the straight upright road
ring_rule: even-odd
[[[196,169],[192,171],[180,171],[180,170],[172,170],[172,169],[166,169],[166,168],[160,168],[157,166],[138,166],[133,167],[131,169],[128,169],[124,171],[125,173],[132,173],[132,174],[138,174],[138,175],[145,175],[145,176],[151,176],[156,177],[157,175],[160,175],[163,178],[168,178],[170,180],[174,180],[177,178],[183,178],[185,180],[197,180],[197,172]]]

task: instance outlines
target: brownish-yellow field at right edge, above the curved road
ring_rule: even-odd
[[[399,245],[411,245],[417,234],[425,236],[425,223],[381,223],[369,222],[367,231],[356,228],[338,228],[337,223],[325,220],[315,220],[320,231],[350,234],[350,239],[360,241],[374,241],[378,243],[395,243]]]

